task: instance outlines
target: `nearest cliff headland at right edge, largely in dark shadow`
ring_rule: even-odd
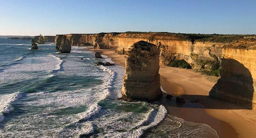
[[[209,96],[256,109],[256,50],[224,48],[222,53],[221,77]]]

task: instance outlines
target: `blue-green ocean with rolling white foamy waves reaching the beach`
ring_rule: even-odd
[[[124,67],[94,53],[0,38],[0,138],[217,138],[206,124],[167,115],[161,104],[121,97]],[[84,60],[82,60],[83,58]],[[193,115],[191,115],[193,116]]]

